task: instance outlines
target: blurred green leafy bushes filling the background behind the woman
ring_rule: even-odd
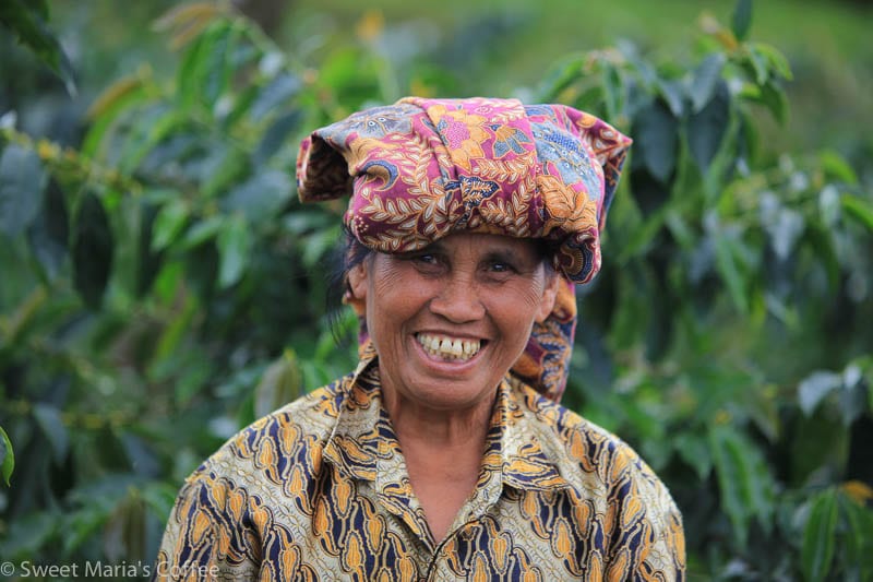
[[[722,20],[518,88],[635,139],[565,404],[667,482],[691,579],[871,580],[870,169],[826,144],[773,155],[791,67],[750,35],[751,1]],[[297,144],[403,94],[466,94],[423,49],[386,50],[429,40],[375,12],[319,51],[225,2],[156,27],[172,70],[127,68],[74,143],[0,111],[4,559],[150,561],[202,459],[351,369],[354,318],[332,330],[324,305],[343,203],[298,203]]]

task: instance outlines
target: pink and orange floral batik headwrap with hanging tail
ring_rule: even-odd
[[[600,231],[630,144],[564,105],[407,97],[304,139],[298,192],[304,202],[349,195],[348,231],[380,252],[421,249],[457,230],[551,242],[567,284],[512,372],[557,401],[576,324],[570,282],[600,269]]]

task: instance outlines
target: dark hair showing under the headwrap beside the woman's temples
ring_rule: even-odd
[[[542,261],[547,280],[551,280],[551,277],[558,275],[553,262],[558,244],[545,238],[535,238],[534,246]],[[343,298],[350,290],[348,273],[368,258],[374,256],[375,252],[355,238],[348,228],[343,228],[343,235],[332,252],[331,264],[333,269],[327,272],[327,321],[334,342],[338,346],[346,345],[339,326],[339,313],[343,309]]]

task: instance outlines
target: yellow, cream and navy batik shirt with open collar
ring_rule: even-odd
[[[155,578],[455,581],[684,579],[681,516],[621,440],[507,377],[475,490],[434,539],[379,367],[254,423],[179,494]]]

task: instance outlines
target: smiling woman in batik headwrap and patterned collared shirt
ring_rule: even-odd
[[[360,364],[194,472],[156,578],[682,580],[665,486],[557,403],[629,145],[570,107],[482,98],[304,140],[301,199],[351,198]]]

